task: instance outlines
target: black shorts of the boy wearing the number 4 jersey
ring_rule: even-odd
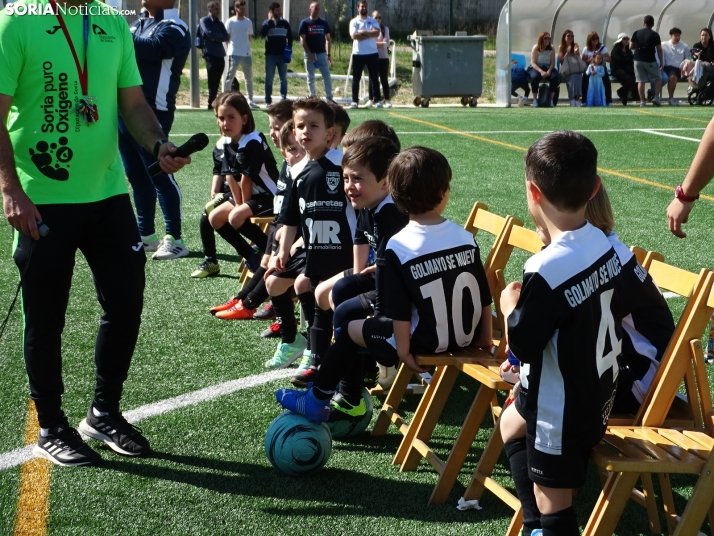
[[[521,391],[516,398],[516,410],[525,413],[526,394]],[[556,456],[537,450],[535,440],[526,437],[526,455],[528,456],[528,477],[538,484],[548,488],[577,489],[585,484],[588,472],[590,451],[595,445],[583,444],[581,448],[571,449],[568,454]]]

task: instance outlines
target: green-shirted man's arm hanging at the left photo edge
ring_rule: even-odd
[[[141,90],[140,90],[141,91]],[[0,93],[0,192],[5,217],[10,225],[24,234],[38,240],[37,220],[42,216],[35,204],[22,189],[15,169],[15,155],[7,131],[7,114],[10,111],[12,97]]]

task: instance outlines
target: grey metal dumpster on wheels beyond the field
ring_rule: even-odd
[[[483,91],[483,44],[486,36],[411,35],[414,106],[433,97],[461,97],[476,106]]]

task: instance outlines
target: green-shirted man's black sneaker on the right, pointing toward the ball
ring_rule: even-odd
[[[141,429],[129,423],[118,409],[110,415],[95,417],[92,408],[89,406],[87,417],[79,423],[83,434],[104,441],[113,451],[126,456],[141,456],[151,450]]]

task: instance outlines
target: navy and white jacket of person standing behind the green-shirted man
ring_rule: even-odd
[[[181,71],[191,50],[191,35],[178,9],[157,11],[131,25],[144,97],[154,110],[176,109]]]

